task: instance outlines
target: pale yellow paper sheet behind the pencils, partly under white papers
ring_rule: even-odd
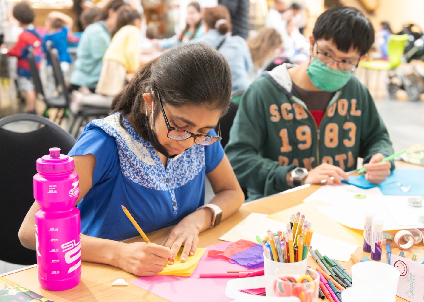
[[[305,220],[312,222],[312,230],[314,233],[316,232],[362,247],[364,243],[363,230],[354,230],[349,227],[345,227],[324,215],[316,208],[324,205],[328,204],[326,202],[314,200],[307,203],[301,203],[300,205],[295,205],[292,208],[274,213],[268,217],[287,223],[290,220],[290,215],[300,212],[305,215]]]

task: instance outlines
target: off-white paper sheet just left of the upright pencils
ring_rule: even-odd
[[[259,235],[261,238],[264,238],[267,236],[268,230],[271,230],[273,233],[277,233],[280,230],[282,232],[286,230],[286,223],[276,221],[267,216],[266,214],[251,213],[218,239],[233,242],[244,239],[258,243],[256,236]]]

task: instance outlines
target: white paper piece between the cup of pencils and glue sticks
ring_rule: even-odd
[[[312,249],[318,249],[321,255],[330,259],[349,262],[350,255],[358,248],[355,244],[343,242],[335,238],[314,233],[311,241]]]

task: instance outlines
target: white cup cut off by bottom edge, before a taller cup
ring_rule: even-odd
[[[395,302],[396,294],[389,293],[375,286],[357,285],[342,291],[342,300],[343,302]]]

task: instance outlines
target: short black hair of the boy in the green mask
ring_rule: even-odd
[[[374,43],[374,28],[356,8],[335,6],[318,17],[313,36],[315,41],[333,39],[337,49],[345,53],[353,47],[362,56]]]

